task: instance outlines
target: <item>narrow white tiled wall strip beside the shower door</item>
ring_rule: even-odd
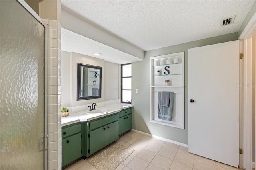
[[[61,170],[61,25],[49,24],[49,169]]]

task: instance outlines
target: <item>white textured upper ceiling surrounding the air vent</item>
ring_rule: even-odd
[[[237,32],[255,0],[62,0],[62,8],[144,51]],[[220,20],[236,15],[234,24]]]

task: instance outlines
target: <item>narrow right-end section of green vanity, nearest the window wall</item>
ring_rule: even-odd
[[[132,129],[132,108],[119,112],[119,135]]]

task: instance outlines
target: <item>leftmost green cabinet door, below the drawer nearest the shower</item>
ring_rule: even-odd
[[[64,166],[81,157],[81,141],[81,133],[63,139]]]

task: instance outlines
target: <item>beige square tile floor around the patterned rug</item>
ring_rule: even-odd
[[[238,170],[238,168],[191,154],[186,147],[134,131],[122,135],[116,143],[135,150],[116,170]],[[81,159],[64,170],[97,169]]]

